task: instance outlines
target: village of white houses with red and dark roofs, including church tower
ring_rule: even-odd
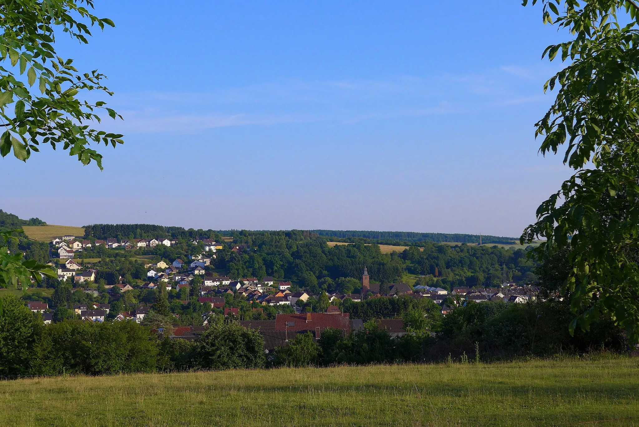
[[[95,287],[96,274],[94,268],[84,268],[81,259],[75,259],[75,255],[83,250],[103,245],[109,249],[127,248],[152,248],[157,245],[175,245],[175,239],[76,239],[75,236],[62,236],[51,241],[53,251],[58,252],[58,280],[72,284],[75,289],[81,289],[84,293],[98,296],[99,291]],[[190,243],[199,243],[197,239]],[[505,282],[500,288],[491,287],[454,287],[447,291],[442,287],[429,287],[423,285],[408,286],[404,283],[387,284],[387,291],[380,291],[380,284],[370,281],[367,268],[364,268],[360,280],[360,288],[354,293],[339,294],[327,293],[324,298],[328,301],[327,307],[322,307],[321,312],[317,306],[311,304],[312,300],[319,300],[321,295],[312,294],[306,289],[300,289],[290,280],[275,280],[273,277],[247,277],[236,280],[230,277],[219,276],[212,272],[212,260],[217,256],[216,252],[224,248],[241,252],[250,250],[247,245],[232,245],[227,242],[216,242],[213,239],[202,239],[204,253],[190,254],[189,259],[176,258],[167,261],[158,261],[153,264],[144,264],[146,268],[146,281],[143,284],[126,283],[123,277],[118,278],[118,283],[104,285],[105,291],[111,296],[121,295],[134,289],[146,289],[151,291],[166,291],[176,298],[185,296],[180,300],[183,305],[197,302],[204,308],[201,321],[194,325],[175,325],[171,331],[172,339],[197,339],[208,325],[210,318],[216,314],[225,318],[232,318],[247,328],[256,328],[265,339],[265,350],[272,351],[278,346],[285,345],[291,337],[302,332],[311,332],[315,339],[321,337],[321,332],[326,328],[337,328],[344,332],[357,331],[364,325],[366,319],[354,318],[351,313],[344,312],[345,302],[360,303],[364,300],[375,298],[399,298],[408,297],[420,300],[426,298],[438,306],[440,313],[445,316],[458,305],[466,302],[505,302],[526,303],[537,298],[539,289],[534,286],[517,286],[514,283]],[[194,287],[195,289],[190,289]],[[196,294],[194,294],[196,291]],[[192,298],[188,298],[189,295]],[[228,296],[232,296],[229,299]],[[240,312],[237,300],[250,305],[251,313],[246,316]],[[230,303],[229,303],[230,302]],[[52,322],[50,307],[46,302],[27,302],[29,309],[40,312],[44,323]],[[273,307],[272,316],[265,316],[264,309],[260,307]],[[132,310],[122,310],[114,316],[109,316],[111,305],[109,303],[84,303],[73,304],[69,307],[73,313],[85,321],[125,321],[132,320],[137,323],[144,321],[146,314],[152,308],[152,304],[139,303]],[[315,309],[314,309],[315,308]],[[254,314],[258,312],[259,316]],[[179,315],[178,315],[179,317]],[[362,316],[360,316],[362,317]],[[394,316],[397,317],[397,316]],[[373,316],[381,328],[388,330],[393,336],[406,333],[406,328],[401,318],[385,318],[383,315]],[[160,330],[160,334],[164,331]]]

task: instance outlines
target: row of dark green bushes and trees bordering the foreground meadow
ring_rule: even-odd
[[[413,302],[408,302],[412,300]],[[396,362],[469,362],[518,356],[623,352],[627,342],[601,316],[588,332],[571,336],[569,303],[473,303],[442,316],[432,302],[409,298],[403,313],[406,334],[392,335],[369,320],[360,330],[323,330],[319,340],[300,334],[288,346],[265,355],[263,337],[217,315],[197,341],[162,339],[135,321],[106,323],[65,319],[43,325],[15,296],[3,297],[0,312],[0,376],[62,375],[331,366]],[[153,312],[151,312],[153,313]],[[152,314],[147,314],[152,316]]]

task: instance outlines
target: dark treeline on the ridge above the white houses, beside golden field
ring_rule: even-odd
[[[84,238],[95,239],[214,239],[215,230],[194,230],[153,224],[92,224],[84,225]]]

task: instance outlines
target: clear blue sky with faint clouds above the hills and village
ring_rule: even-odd
[[[176,7],[176,4],[178,5]],[[563,40],[518,1],[96,0],[89,45],[124,117],[104,172],[0,159],[0,208],[85,225],[519,236],[569,176],[537,153]],[[559,156],[557,156],[559,157]],[[27,188],[26,193],[24,188]]]

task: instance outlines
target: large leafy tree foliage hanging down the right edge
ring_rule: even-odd
[[[569,65],[544,85],[557,97],[535,136],[544,155],[564,150],[575,172],[539,206],[521,243],[544,239],[535,249],[540,261],[567,251],[562,291],[576,314],[571,333],[606,313],[638,342],[639,8],[618,0],[539,3],[543,22],[573,39],[543,52]]]

